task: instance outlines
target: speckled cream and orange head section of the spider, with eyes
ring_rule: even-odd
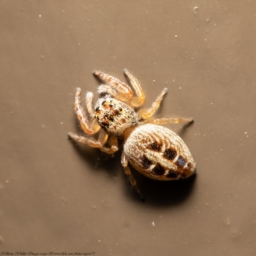
[[[115,136],[122,136],[126,129],[138,124],[136,112],[109,95],[98,100],[94,117],[105,131]]]

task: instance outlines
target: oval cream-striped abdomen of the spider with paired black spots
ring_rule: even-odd
[[[195,161],[184,141],[161,125],[139,125],[124,144],[124,154],[136,170],[157,180],[187,178]]]

